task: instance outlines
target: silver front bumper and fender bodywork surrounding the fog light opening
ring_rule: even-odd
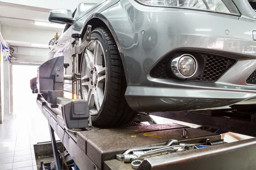
[[[246,8],[243,3],[241,8]],[[256,20],[247,13],[238,17],[149,7],[134,0],[120,0],[103,11],[119,46],[128,84],[125,96],[131,108],[189,111],[256,103],[256,85],[246,82],[256,70]],[[151,77],[154,66],[177,50],[224,55],[236,63],[215,82]]]

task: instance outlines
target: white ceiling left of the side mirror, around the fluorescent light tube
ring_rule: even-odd
[[[61,32],[62,28],[34,25],[34,21],[49,22],[50,10],[47,8],[0,2],[0,23],[2,26]]]

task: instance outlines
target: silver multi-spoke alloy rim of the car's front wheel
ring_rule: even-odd
[[[91,116],[99,113],[105,96],[107,67],[103,51],[99,40],[93,40],[84,52],[81,87],[83,99],[87,100]]]

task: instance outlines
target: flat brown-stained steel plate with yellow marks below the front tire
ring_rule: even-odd
[[[181,137],[183,128],[188,129],[189,138]],[[177,124],[145,125],[81,132],[78,133],[77,144],[80,148],[86,147],[87,156],[98,167],[103,168],[104,161],[115,159],[116,154],[123,153],[125,150],[133,147],[166,144],[170,139],[201,143],[204,139],[221,139],[221,136]]]

